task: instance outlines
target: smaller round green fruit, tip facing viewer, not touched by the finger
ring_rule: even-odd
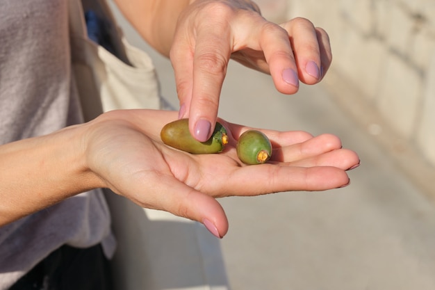
[[[245,131],[238,139],[237,156],[245,164],[265,163],[272,156],[272,144],[261,131]]]

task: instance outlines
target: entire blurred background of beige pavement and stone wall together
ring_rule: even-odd
[[[306,17],[331,38],[334,61],[296,95],[231,63],[220,117],[336,134],[358,152],[350,186],[220,200],[222,252],[233,290],[435,289],[435,2],[257,0],[273,22]],[[170,62],[115,10],[149,52],[178,109]]]

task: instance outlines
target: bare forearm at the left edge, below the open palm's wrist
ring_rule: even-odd
[[[0,225],[101,185],[82,134],[83,125],[0,146]]]

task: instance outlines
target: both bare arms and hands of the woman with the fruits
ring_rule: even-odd
[[[142,207],[197,220],[215,234],[228,220],[216,198],[343,187],[358,155],[337,136],[261,130],[274,148],[268,163],[245,166],[236,154],[248,127],[220,120],[229,143],[220,154],[189,154],[162,143],[164,124],[189,118],[199,141],[215,127],[232,58],[270,74],[279,92],[321,81],[331,65],[327,33],[308,19],[274,24],[243,0],[115,0],[140,35],[174,68],[179,112],[111,111],[46,136],[0,145],[0,225],[92,188],[108,187]],[[12,96],[14,97],[14,96]],[[267,180],[261,184],[254,180]]]

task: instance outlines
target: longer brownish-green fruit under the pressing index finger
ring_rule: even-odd
[[[181,119],[165,124],[161,131],[163,143],[192,154],[219,153],[228,143],[227,130],[216,122],[215,131],[206,142],[199,142],[190,134],[188,119]]]

